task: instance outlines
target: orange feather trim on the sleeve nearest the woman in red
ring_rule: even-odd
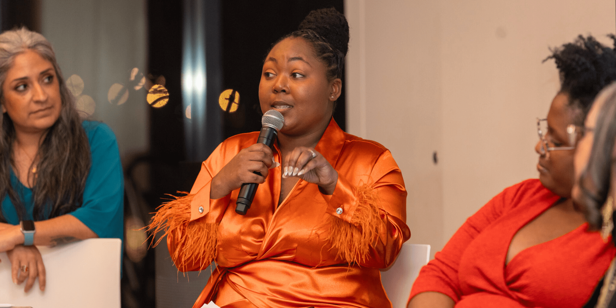
[[[357,207],[346,222],[339,217],[330,216],[331,230],[328,236],[332,249],[338,250],[336,257],[351,263],[367,261],[371,246],[375,246],[379,227],[383,224],[379,214],[378,191],[364,184],[355,188]]]

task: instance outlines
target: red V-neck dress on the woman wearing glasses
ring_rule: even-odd
[[[582,307],[616,253],[588,224],[524,249],[505,265],[511,239],[559,200],[537,179],[506,188],[469,217],[419,272],[410,298],[436,291],[463,307]]]

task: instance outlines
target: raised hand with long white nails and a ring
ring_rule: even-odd
[[[317,184],[326,195],[334,193],[338,182],[338,171],[314,148],[294,148],[289,155],[286,155],[282,171],[283,178],[296,176],[306,182]]]

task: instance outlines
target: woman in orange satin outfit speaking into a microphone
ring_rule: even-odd
[[[281,38],[259,85],[261,110],[285,118],[273,149],[256,144],[259,132],[230,137],[153,218],[179,270],[217,263],[193,307],[391,307],[379,269],[410,237],[407,192],[389,150],[332,118],[348,42],[335,9]],[[241,216],[235,201],[250,182],[261,185]]]

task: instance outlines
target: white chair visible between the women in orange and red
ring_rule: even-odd
[[[402,245],[398,258],[387,269],[381,270],[381,282],[394,308],[406,308],[408,296],[419,270],[430,260],[430,245]]]

